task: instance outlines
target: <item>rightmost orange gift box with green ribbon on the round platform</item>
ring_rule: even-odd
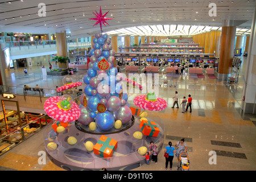
[[[156,123],[149,120],[142,120],[139,124],[139,127],[141,128],[141,131],[144,135],[150,137],[158,137],[158,134],[160,132]]]

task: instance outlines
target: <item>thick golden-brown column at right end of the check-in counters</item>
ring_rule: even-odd
[[[220,60],[218,61],[218,79],[220,80],[226,80],[228,74],[232,73],[236,26],[233,26],[231,21],[226,20],[222,23]]]

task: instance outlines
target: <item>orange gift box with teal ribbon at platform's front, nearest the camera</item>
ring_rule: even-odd
[[[104,158],[110,158],[113,152],[117,149],[117,140],[101,135],[101,138],[93,147],[93,152],[96,155]]]

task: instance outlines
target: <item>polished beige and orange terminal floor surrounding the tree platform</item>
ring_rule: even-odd
[[[237,88],[234,88],[233,85],[225,86],[224,82],[207,75],[197,77],[186,72],[183,76],[170,76],[159,72],[159,81],[172,79],[173,82],[179,82],[179,86],[161,85],[159,97],[168,102],[168,107],[163,111],[154,111],[151,114],[158,116],[164,122],[164,147],[169,141],[174,146],[181,138],[185,139],[192,171],[255,171],[256,169],[256,116],[255,114],[241,113],[242,75],[245,73],[246,57],[242,57],[242,60]],[[26,77],[23,75],[23,69],[18,69],[8,72],[7,80],[9,85],[35,86],[39,84],[42,88],[55,88],[56,82],[53,85],[50,81],[43,82],[33,78],[33,74],[36,75],[40,72],[39,67],[28,68]],[[85,71],[79,71],[76,74],[85,74]],[[61,81],[59,84],[61,85]],[[185,84],[186,86],[184,86]],[[188,112],[182,113],[181,106],[179,109],[172,108],[174,103],[172,97],[174,97],[175,91],[179,95],[179,104],[183,96],[188,98],[188,94],[191,94],[193,98],[192,113],[189,113],[189,109]],[[129,94],[130,106],[134,106],[133,98],[137,95]],[[38,152],[45,151],[43,132],[44,130],[39,131],[2,155],[0,170],[64,170],[57,167],[48,158],[46,164],[38,164]],[[210,151],[215,151],[217,154],[216,164],[209,163],[212,156]],[[169,166],[168,169],[165,169],[165,162],[164,150],[161,150],[158,154],[158,163],[150,162],[149,166],[144,164],[133,170],[177,170],[177,158],[173,160],[172,170]]]

